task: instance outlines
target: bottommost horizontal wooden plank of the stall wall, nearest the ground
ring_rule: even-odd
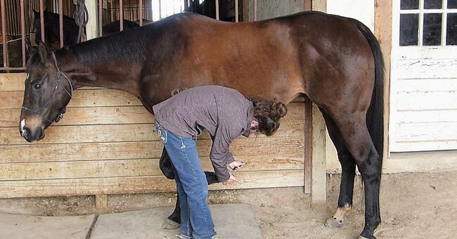
[[[236,186],[216,183],[210,189],[274,188],[303,186],[303,170],[237,172],[243,180]],[[0,181],[0,198],[51,197],[175,191],[175,183],[165,176],[134,176],[95,179],[51,179]]]

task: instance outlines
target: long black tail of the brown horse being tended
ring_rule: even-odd
[[[382,167],[382,153],[384,151],[384,58],[378,39],[371,30],[358,22],[357,27],[368,40],[375,60],[375,84],[371,96],[371,104],[366,113],[366,126],[371,140],[380,157],[380,172]]]

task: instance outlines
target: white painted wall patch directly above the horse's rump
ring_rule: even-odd
[[[327,13],[355,18],[375,29],[375,0],[327,0]]]

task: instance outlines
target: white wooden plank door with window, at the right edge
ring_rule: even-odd
[[[457,149],[457,46],[399,46],[392,7],[390,152]]]

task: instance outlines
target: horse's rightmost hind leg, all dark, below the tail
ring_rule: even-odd
[[[381,222],[379,206],[380,156],[366,127],[365,112],[333,114],[347,150],[361,173],[365,190],[365,226],[360,238],[375,238]]]

